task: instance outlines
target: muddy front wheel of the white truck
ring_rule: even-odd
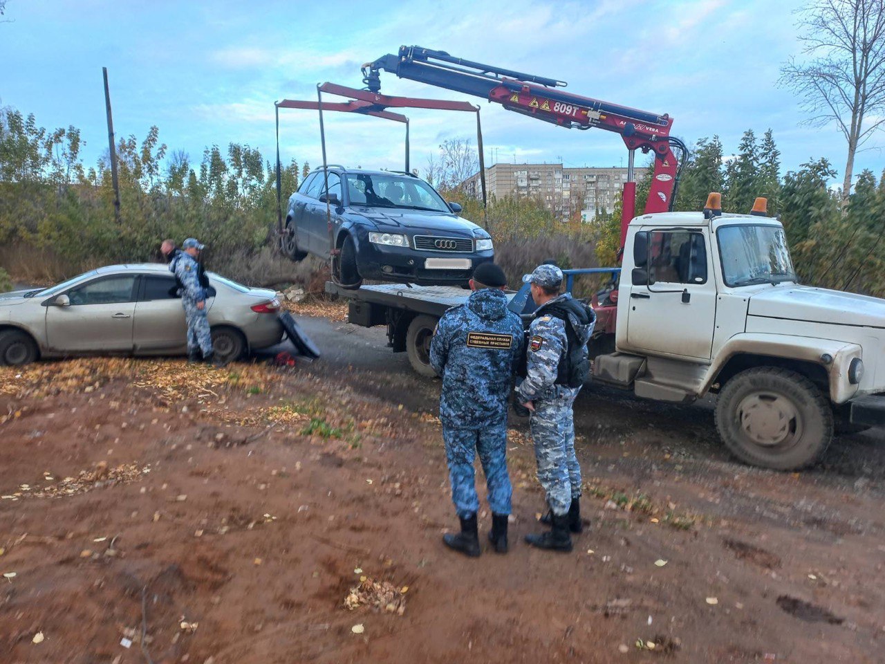
[[[773,470],[812,466],[833,439],[833,409],[802,374],[757,367],[735,375],[716,402],[716,429],[744,463]]]

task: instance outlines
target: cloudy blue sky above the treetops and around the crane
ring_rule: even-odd
[[[141,143],[152,125],[170,154],[199,162],[213,144],[245,143],[272,159],[276,100],[316,99],[332,81],[362,88],[360,66],[402,44],[567,81],[566,91],[668,113],[688,143],[719,135],[737,151],[744,130],[771,128],[783,171],[827,157],[841,173],[835,126],[801,125],[797,99],[777,85],[801,52],[797,0],[7,0],[0,22],[0,106],[34,113],[49,129],[73,125],[87,166],[107,153],[102,67],[114,129]],[[626,166],[620,136],[531,120],[489,104],[381,73],[389,95],[481,104],[487,166],[547,162]],[[329,101],[335,101],[328,97]],[[473,114],[408,111],[412,167],[446,139],[473,137]],[[403,167],[403,128],[327,113],[328,161]],[[885,134],[876,137],[885,147]],[[493,159],[494,157],[494,159]],[[321,163],[316,112],[281,110],[281,158]],[[637,166],[645,158],[637,155]],[[885,152],[858,153],[855,174],[881,174]]]

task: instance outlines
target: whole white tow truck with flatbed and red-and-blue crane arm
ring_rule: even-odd
[[[750,213],[672,212],[679,162],[673,119],[566,93],[563,81],[404,46],[363,67],[381,99],[381,70],[458,91],[560,127],[621,135],[629,151],[623,192],[622,268],[594,296],[593,379],[635,396],[691,403],[718,395],[717,429],[746,463],[794,470],[815,463],[835,429],[885,424],[885,300],[799,285],[781,222],[759,198]],[[650,195],[635,216],[635,151],[655,157]],[[568,271],[568,290],[576,274]],[[618,279],[623,274],[626,278]],[[435,321],[467,294],[457,289],[365,286],[350,321],[386,324],[394,351],[421,374]],[[527,285],[511,294],[522,313]],[[613,343],[612,343],[613,342]],[[609,348],[606,348],[609,346]]]

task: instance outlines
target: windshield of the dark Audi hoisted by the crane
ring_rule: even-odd
[[[449,206],[433,187],[418,178],[396,174],[349,173],[345,179],[350,205],[450,212]]]

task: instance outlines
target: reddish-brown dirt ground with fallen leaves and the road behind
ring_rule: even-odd
[[[328,352],[292,368],[0,369],[0,661],[885,661],[881,434],[773,473],[709,405],[585,390],[574,552],[521,541],[543,494],[512,418],[512,550],[469,560],[439,382],[305,327]]]

